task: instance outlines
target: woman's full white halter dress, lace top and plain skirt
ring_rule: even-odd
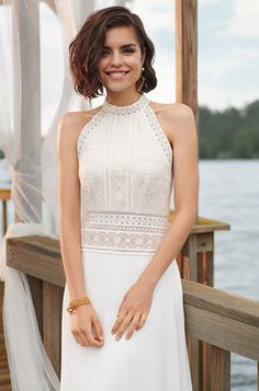
[[[191,391],[182,286],[172,260],[154,290],[144,326],[130,340],[111,329],[123,296],[168,229],[172,150],[149,100],[101,111],[78,138],[81,254],[102,347],[81,346],[63,301],[60,391]]]

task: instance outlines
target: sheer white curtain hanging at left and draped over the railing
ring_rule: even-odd
[[[9,227],[0,249],[4,340],[13,391],[58,390],[59,379],[41,340],[26,276],[7,266],[5,239],[31,234],[58,238],[56,131],[60,116],[78,100],[68,46],[90,12],[130,5],[130,1],[105,0],[46,3],[59,20],[64,54],[63,91],[47,131],[41,129],[38,0],[2,0],[0,5],[0,149],[12,168],[12,200],[22,221]],[[81,107],[88,108],[83,100],[78,110]]]

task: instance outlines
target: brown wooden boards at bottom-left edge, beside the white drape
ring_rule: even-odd
[[[4,338],[3,338],[2,301],[3,301],[3,283],[0,281],[0,390],[11,391],[11,380],[10,380],[10,373],[8,367]]]

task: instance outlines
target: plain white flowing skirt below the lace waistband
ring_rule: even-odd
[[[82,251],[86,291],[103,330],[102,347],[81,346],[70,331],[67,285],[61,322],[60,391],[191,391],[182,286],[173,260],[159,279],[144,326],[130,340],[111,329],[127,289],[150,261],[146,254]]]

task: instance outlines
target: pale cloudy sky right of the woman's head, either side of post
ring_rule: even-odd
[[[156,3],[135,0],[133,9],[156,43],[159,99],[171,102],[176,85],[173,1]],[[198,4],[199,104],[223,110],[259,99],[259,1],[198,0]]]

